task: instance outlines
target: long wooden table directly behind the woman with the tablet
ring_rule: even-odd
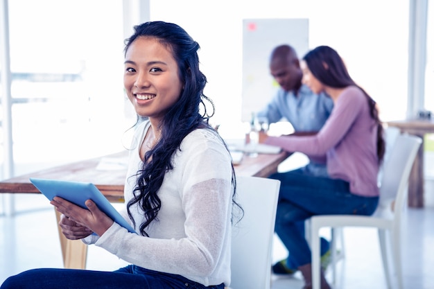
[[[275,155],[259,154],[257,157],[245,155],[241,164],[234,166],[236,175],[268,177],[277,172],[277,166],[289,157],[290,153],[280,152]],[[29,181],[29,177],[45,179],[63,179],[77,182],[92,182],[110,200],[110,202],[124,202],[123,184],[126,177],[126,161],[128,152],[119,152],[105,157],[97,157],[73,164],[66,164],[41,170],[19,177],[13,177],[0,182],[0,193],[40,193]],[[125,167],[106,170],[98,169],[105,160],[125,161]],[[60,214],[56,212],[58,222]],[[86,266],[87,245],[81,240],[69,240],[64,237],[60,227],[59,238],[65,268],[83,269]]]

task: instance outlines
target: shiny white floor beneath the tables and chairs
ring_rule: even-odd
[[[426,181],[426,207],[408,209],[403,234],[403,277],[406,289],[434,289],[434,178]],[[5,203],[0,196],[0,204]],[[62,268],[62,256],[53,208],[42,195],[16,195],[16,215],[0,216],[0,283],[29,268]],[[4,207],[0,206],[0,212]],[[327,232],[325,232],[327,234]],[[338,263],[334,289],[383,289],[385,279],[376,231],[345,229],[344,261]],[[273,261],[286,256],[275,238]],[[103,249],[89,246],[87,268],[114,270],[125,265]],[[331,280],[331,272],[327,278]],[[298,274],[272,277],[272,289],[302,288]],[[249,288],[241,288],[249,289]]]

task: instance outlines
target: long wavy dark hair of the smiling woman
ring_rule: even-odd
[[[176,150],[180,150],[180,144],[184,137],[193,130],[197,128],[213,129],[208,120],[214,114],[214,103],[203,94],[207,78],[199,69],[197,51],[200,46],[184,29],[164,21],[150,21],[134,26],[134,34],[125,40],[125,53],[138,37],[152,37],[172,52],[179,67],[178,76],[184,87],[179,99],[168,110],[160,123],[162,135],[155,146],[146,152],[144,166],[137,172],[138,180],[133,192],[134,198],[127,204],[128,216],[134,225],[130,207],[139,203],[143,209],[146,220],[140,225],[140,233],[143,236],[148,236],[145,229],[150,222],[157,218],[161,208],[161,200],[157,193],[162,186],[164,175],[168,170],[173,169],[172,156]],[[203,100],[211,103],[211,114],[207,112]],[[200,114],[201,106],[204,110],[202,114]],[[225,142],[223,141],[223,143]],[[234,166],[232,166],[232,184],[234,187],[232,200],[239,207],[234,200],[236,192]]]

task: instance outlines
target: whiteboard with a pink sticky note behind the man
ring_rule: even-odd
[[[302,58],[309,49],[309,19],[243,19],[242,121],[250,121],[279,87],[269,65],[272,49],[281,44],[290,44]]]

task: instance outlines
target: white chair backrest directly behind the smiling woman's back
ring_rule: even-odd
[[[232,229],[231,289],[267,289],[271,282],[272,240],[280,181],[237,177],[237,200],[244,210]]]

